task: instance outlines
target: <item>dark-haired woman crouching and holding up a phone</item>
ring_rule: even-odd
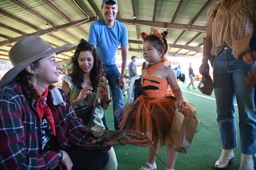
[[[111,98],[108,86],[105,83],[99,84],[100,77],[105,77],[101,58],[93,45],[82,39],[76,47],[70,64],[72,65],[72,73],[62,78],[61,88],[68,94],[74,109],[84,105],[92,105],[95,102],[95,112],[91,120],[85,124],[87,130],[91,130],[93,125],[105,128],[102,122],[104,115],[102,108],[108,109]],[[98,93],[99,96],[96,95],[98,87],[101,89]],[[104,170],[116,170],[117,160],[113,147],[108,151],[108,154],[109,162]]]

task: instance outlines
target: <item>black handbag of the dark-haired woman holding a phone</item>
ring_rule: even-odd
[[[76,109],[74,109],[75,113],[76,113],[76,116],[80,119],[82,119],[82,121],[84,122],[84,124],[87,124],[94,112],[95,112],[95,109],[96,109],[96,106],[95,106],[95,101],[96,101],[96,96],[97,94],[95,95],[95,99],[94,99],[94,103],[93,105],[85,105],[85,106],[81,106],[81,107],[78,107]]]

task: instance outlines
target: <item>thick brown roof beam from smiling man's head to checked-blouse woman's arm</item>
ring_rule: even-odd
[[[186,31],[197,31],[197,32],[207,32],[207,27],[197,26],[197,25],[186,25],[186,24],[174,24],[167,22],[156,22],[156,21],[145,21],[145,20],[130,20],[130,19],[117,19],[124,24],[132,25],[142,25],[148,27],[158,27],[164,29],[176,29],[176,30],[186,30]]]

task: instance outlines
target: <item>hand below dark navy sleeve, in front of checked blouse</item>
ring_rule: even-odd
[[[247,37],[241,38],[240,40],[237,40],[234,44],[234,47],[232,49],[232,54],[235,57],[236,60],[241,61],[242,60],[242,54],[251,51],[249,47],[249,42],[252,35],[249,35]]]

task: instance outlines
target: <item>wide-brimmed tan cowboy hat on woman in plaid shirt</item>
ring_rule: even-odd
[[[0,88],[11,83],[16,76],[27,66],[43,57],[56,53],[65,52],[76,44],[66,44],[61,47],[53,48],[39,36],[28,36],[17,41],[9,51],[9,59],[13,68],[9,70],[0,81]]]

